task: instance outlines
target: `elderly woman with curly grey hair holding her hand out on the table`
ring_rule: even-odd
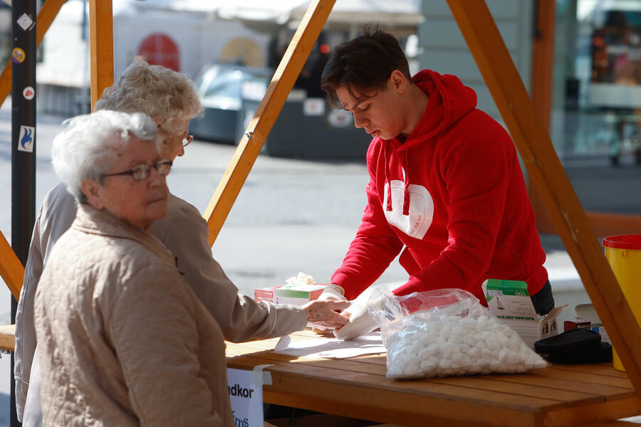
[[[105,89],[95,107],[96,110],[144,112],[152,117],[163,139],[160,154],[172,161],[182,156],[184,147],[192,141],[187,133],[189,120],[202,110],[194,84],[187,76],[144,62],[130,65],[115,85]],[[348,320],[332,311],[347,307],[349,303],[345,302],[318,301],[301,308],[255,302],[251,297],[239,295],[234,283],[212,257],[209,228],[199,211],[172,194],[167,205],[167,216],[153,223],[150,233],[177,257],[184,280],[218,322],[225,339],[242,342],[279,337],[302,330],[308,322],[338,327]],[[48,253],[71,226],[75,209],[75,201],[65,184],[59,184],[46,194],[33,228],[16,312],[16,410],[25,427],[41,425],[33,295]]]

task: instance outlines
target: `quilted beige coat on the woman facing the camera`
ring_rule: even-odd
[[[222,332],[149,233],[88,205],[35,300],[45,426],[234,426]]]

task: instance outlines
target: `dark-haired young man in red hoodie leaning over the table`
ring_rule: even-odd
[[[395,295],[523,280],[540,315],[554,307],[546,254],[510,136],[454,75],[410,76],[397,39],[374,28],[336,46],[321,86],[372,135],[363,222],[322,299],[353,300],[400,253]],[[354,307],[354,305],[353,305]],[[363,307],[337,337],[374,329]]]

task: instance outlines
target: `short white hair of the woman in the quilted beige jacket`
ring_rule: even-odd
[[[85,179],[100,182],[113,166],[116,151],[134,136],[157,143],[157,127],[148,115],[102,110],[65,120],[65,129],[53,139],[53,170],[75,200],[85,201],[81,184]]]

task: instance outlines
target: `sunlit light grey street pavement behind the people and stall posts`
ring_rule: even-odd
[[[0,108],[0,231],[11,241],[11,102]],[[36,130],[36,209],[58,183],[51,168],[51,141],[63,117],[38,116]],[[170,190],[204,209],[236,147],[194,141],[174,162]],[[340,265],[360,223],[368,182],[364,162],[309,162],[261,155],[226,219],[213,253],[241,292],[281,285],[299,271],[327,283]],[[636,208],[634,208],[636,209]],[[578,274],[556,236],[541,236],[548,255],[557,305],[589,302]],[[377,283],[403,283],[407,274],[396,261]],[[1,282],[1,280],[0,280]],[[0,284],[0,322],[10,322],[10,295]],[[0,359],[0,426],[8,425],[9,357]],[[5,404],[6,400],[6,404]]]

